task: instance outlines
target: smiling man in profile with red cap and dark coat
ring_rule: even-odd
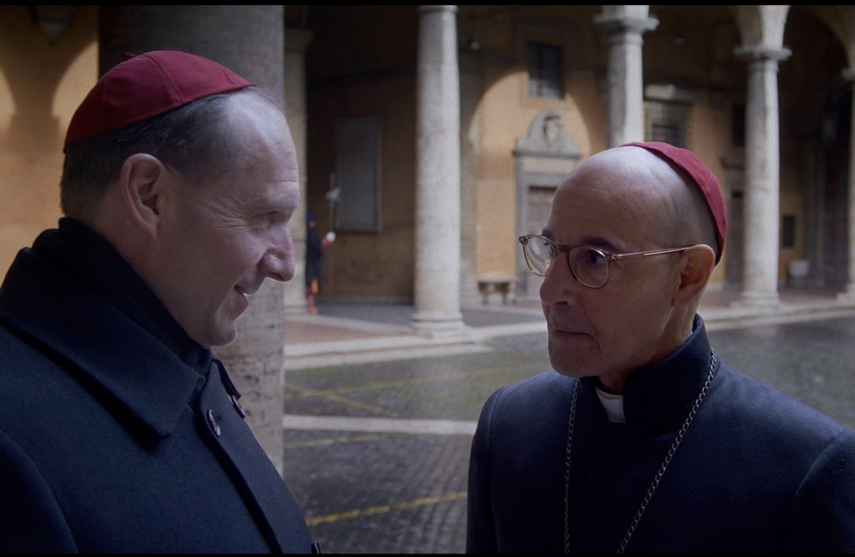
[[[291,134],[200,56],[109,70],[68,127],[57,230],[0,289],[0,548],[310,553],[211,347],[294,274]]]

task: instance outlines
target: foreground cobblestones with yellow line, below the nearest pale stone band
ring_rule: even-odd
[[[286,484],[324,553],[463,552],[469,436],[287,438]],[[332,443],[292,447],[297,438]]]

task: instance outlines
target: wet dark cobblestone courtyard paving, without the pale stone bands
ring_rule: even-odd
[[[714,331],[723,361],[855,426],[855,319]],[[544,334],[484,354],[289,371],[286,413],[474,421],[549,368]],[[285,432],[286,483],[324,553],[461,553],[469,435]]]

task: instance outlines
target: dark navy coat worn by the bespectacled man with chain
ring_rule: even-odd
[[[569,477],[569,542],[615,553],[710,370],[693,335],[624,390],[609,422],[583,378]],[[711,390],[642,514],[627,553],[852,553],[855,432],[716,365]],[[498,390],[469,465],[470,553],[563,553],[568,419],[576,379],[547,372]]]

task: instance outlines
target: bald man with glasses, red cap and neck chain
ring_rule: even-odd
[[[722,364],[697,314],[722,188],[669,144],[593,155],[520,238],[555,371],[495,392],[469,553],[852,553],[855,432]]]

